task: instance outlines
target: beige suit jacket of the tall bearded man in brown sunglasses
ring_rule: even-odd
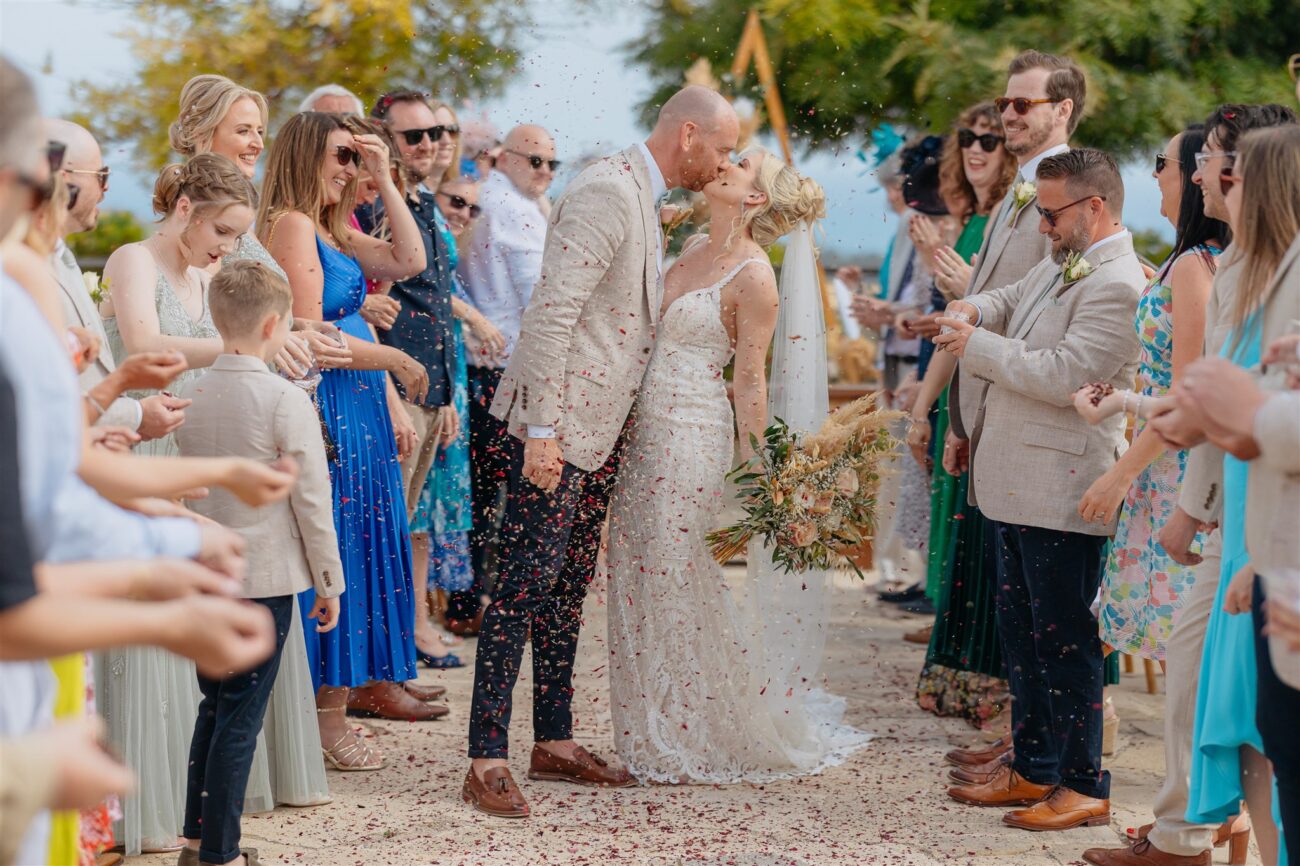
[[[1002,203],[993,211],[993,222],[980,246],[975,273],[966,290],[967,298],[989,289],[1010,286],[1052,254],[1052,239],[1039,234],[1039,213],[1034,209],[1037,200],[1034,196],[1017,208],[1015,185],[1006,191]],[[988,387],[970,376],[965,363],[958,363],[956,377],[957,399],[949,400],[949,417],[956,425],[954,433],[968,437]]]

